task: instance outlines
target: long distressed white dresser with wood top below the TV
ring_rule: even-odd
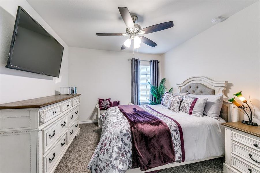
[[[79,134],[81,94],[0,105],[0,172],[54,172]]]

